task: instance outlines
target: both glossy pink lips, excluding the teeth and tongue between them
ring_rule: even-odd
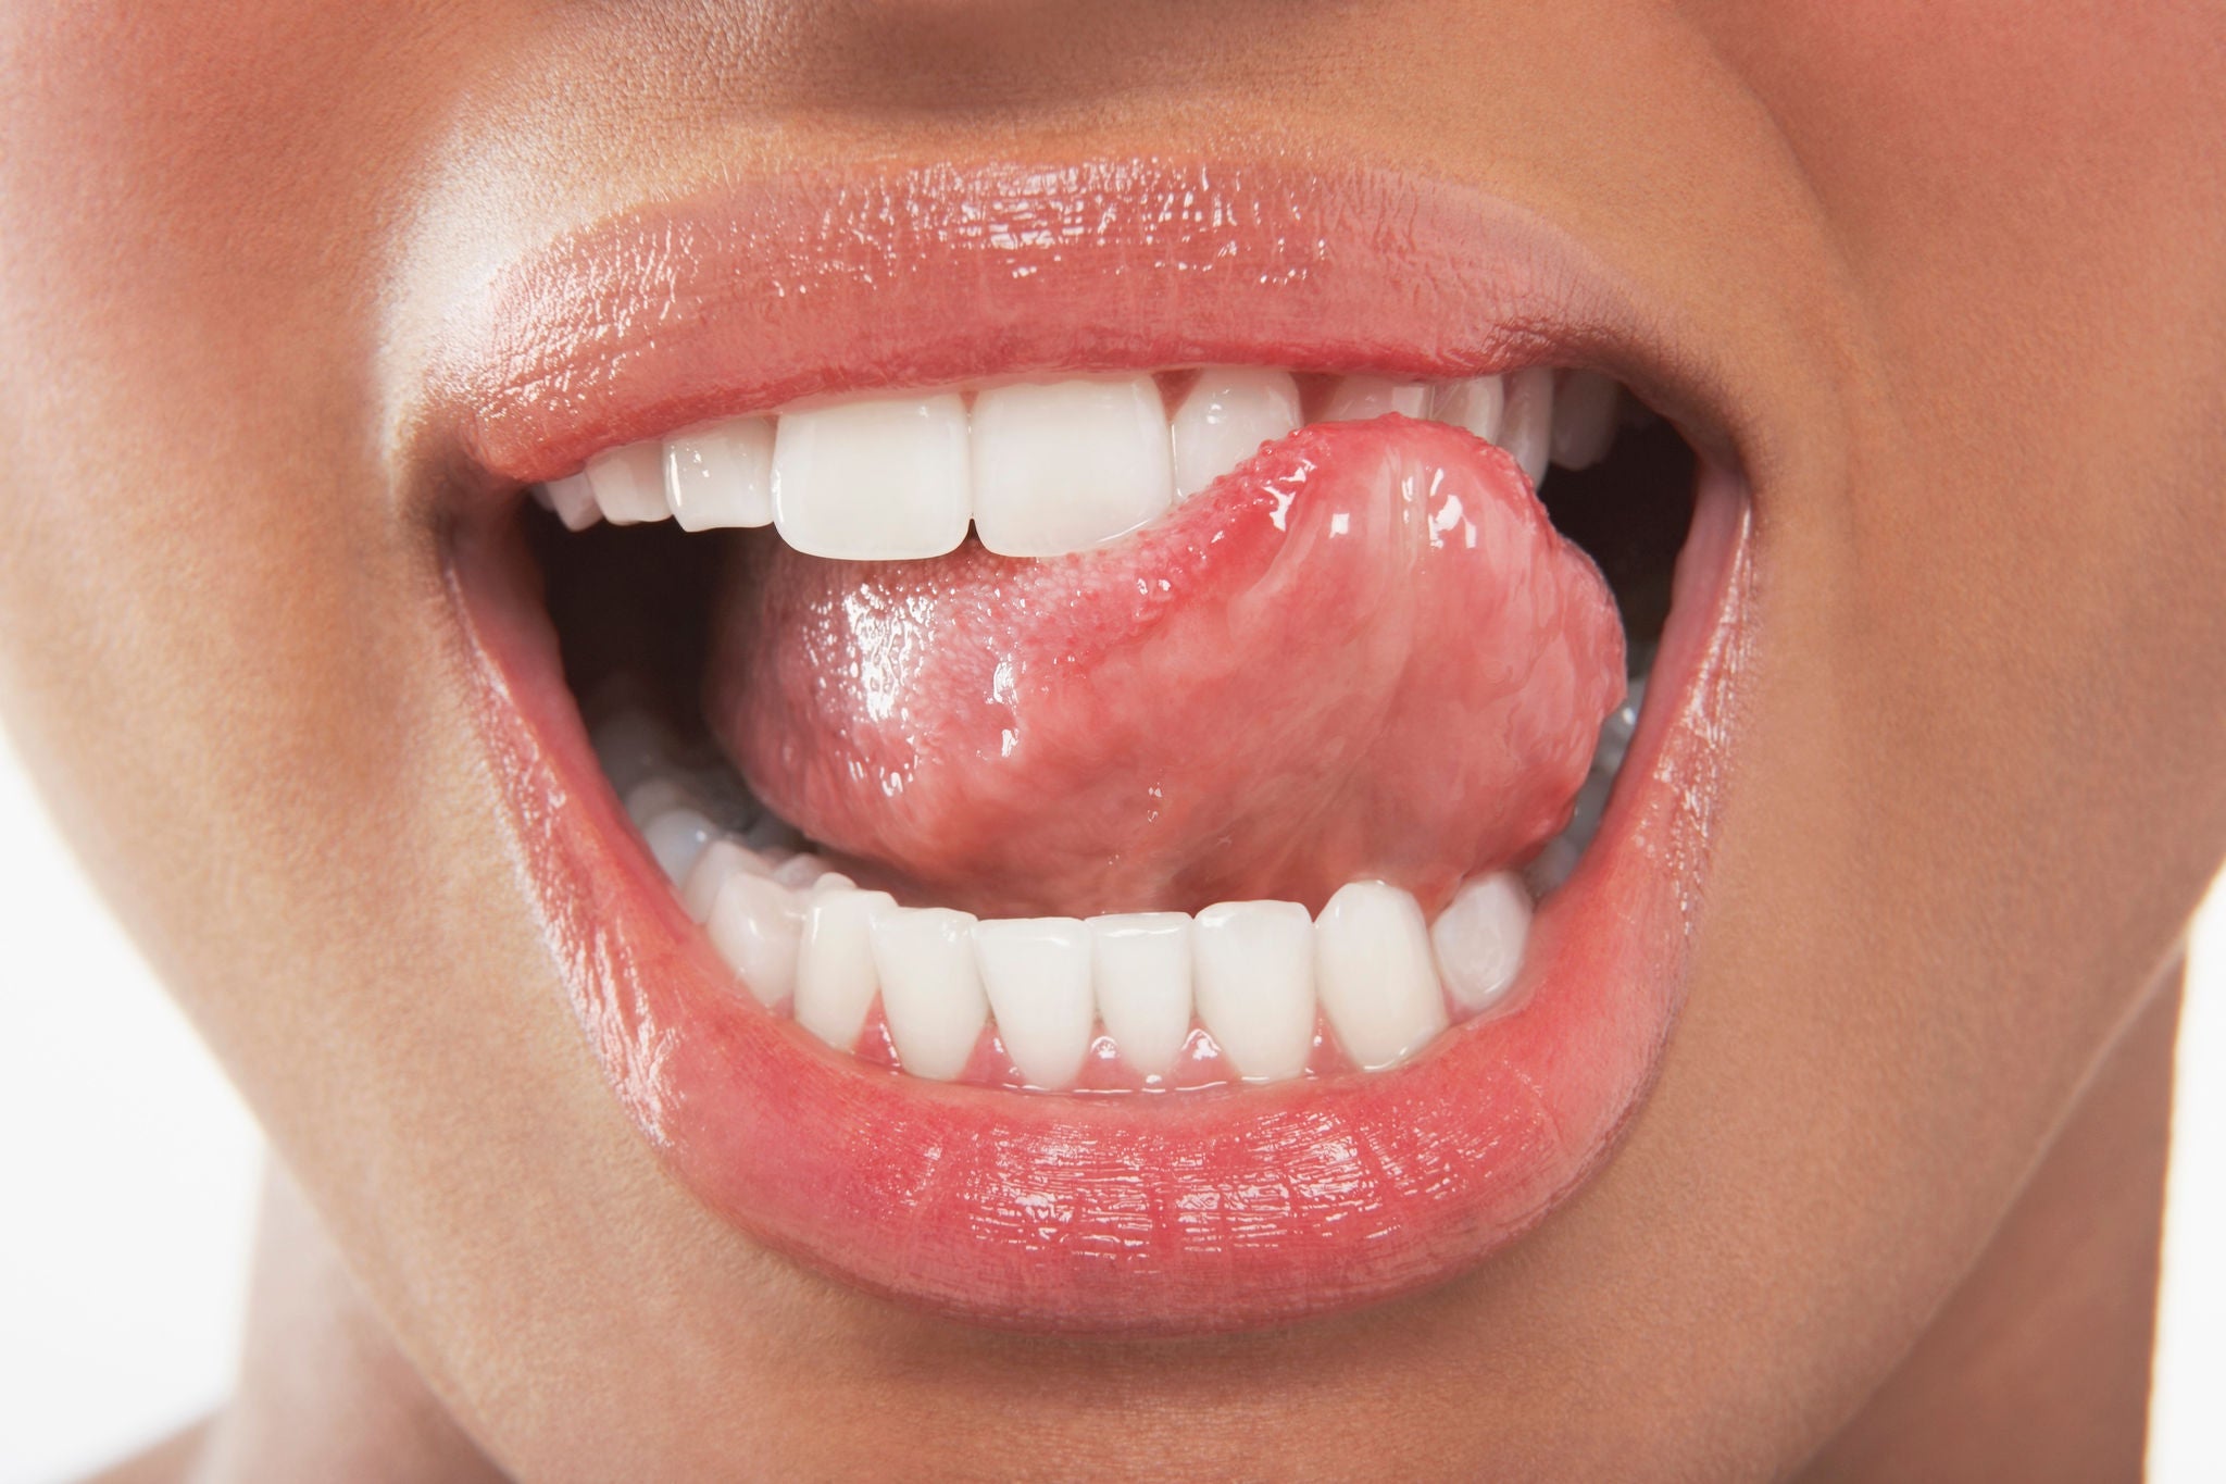
[[[514,492],[597,447],[855,385],[1663,354],[1616,340],[1641,316],[1552,234],[1465,191],[1358,180],[997,167],[630,218],[501,278],[436,409]],[[768,285],[788,291],[757,300]],[[953,1317],[1202,1333],[1449,1277],[1578,1188],[1643,1097],[1683,999],[1745,632],[1745,489],[1712,472],[1698,494],[1647,714],[1594,848],[1540,908],[1516,1008],[1396,1072],[1164,1097],[926,1084],[764,1015],[610,797],[499,501],[456,516],[450,556],[565,990],[679,1179],[755,1239]]]

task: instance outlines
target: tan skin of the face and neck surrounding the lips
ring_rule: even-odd
[[[2222,62],[2195,4],[9,7],[0,701],[289,1170],[240,1399],[140,1477],[2135,1477],[2226,854]],[[719,160],[1206,142],[1474,180],[1721,336],[1712,901],[1627,1144],[1509,1253],[986,1335],[752,1250],[623,1121],[390,414],[474,263]]]

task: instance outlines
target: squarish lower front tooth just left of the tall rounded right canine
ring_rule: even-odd
[[[1198,1019],[1244,1081],[1307,1070],[1313,919],[1296,901],[1218,901],[1191,932]]]

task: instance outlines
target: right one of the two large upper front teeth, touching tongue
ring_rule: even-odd
[[[1175,498],[1151,376],[1084,376],[975,396],[975,534],[1002,556],[1086,552]]]

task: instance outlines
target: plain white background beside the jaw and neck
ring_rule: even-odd
[[[223,1395],[258,1146],[216,1063],[80,881],[4,739],[0,961],[0,1484],[49,1484]],[[2226,890],[2197,921],[2179,1057],[2150,1477],[2217,1484]]]

